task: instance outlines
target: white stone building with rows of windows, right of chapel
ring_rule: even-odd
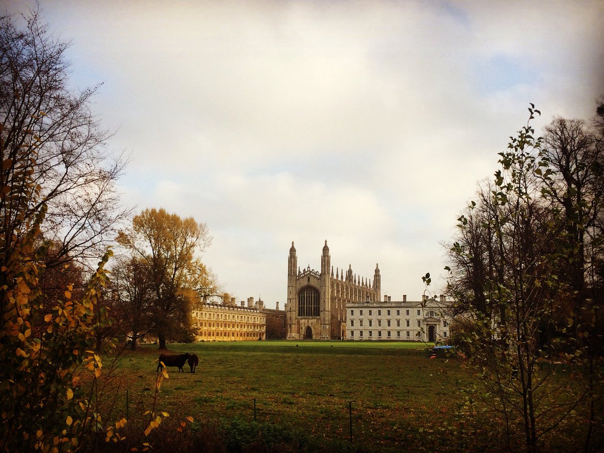
[[[446,341],[451,318],[445,315],[446,300],[422,296],[421,301],[355,302],[346,304],[346,339]]]

